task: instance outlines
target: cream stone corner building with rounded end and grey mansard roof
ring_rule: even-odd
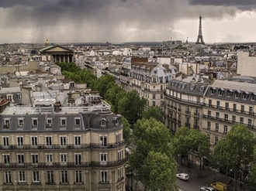
[[[124,191],[125,140],[109,105],[8,106],[0,113],[0,190]]]

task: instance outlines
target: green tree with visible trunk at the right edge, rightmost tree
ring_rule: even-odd
[[[234,170],[237,190],[237,172],[253,161],[255,138],[244,124],[234,124],[226,139],[220,140],[214,149],[213,159],[216,166]]]

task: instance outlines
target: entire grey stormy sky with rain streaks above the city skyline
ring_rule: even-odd
[[[0,43],[256,42],[255,0],[0,0]]]

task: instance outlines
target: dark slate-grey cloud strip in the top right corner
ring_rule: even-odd
[[[236,6],[238,9],[256,9],[255,0],[189,0],[190,5]]]

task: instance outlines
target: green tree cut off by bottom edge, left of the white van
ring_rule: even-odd
[[[177,163],[161,152],[149,152],[142,165],[142,183],[146,190],[177,190]]]

